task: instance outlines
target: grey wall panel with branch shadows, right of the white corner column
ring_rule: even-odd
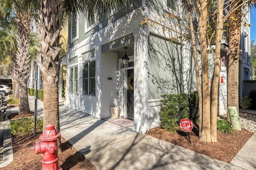
[[[185,84],[189,85],[188,91],[196,88],[192,77],[194,67],[184,64],[182,45],[171,43],[154,35],[149,36],[148,45],[149,100],[159,99],[161,94],[184,92],[184,80],[186,80]],[[193,63],[192,57],[189,63]],[[188,71],[184,71],[186,69]]]

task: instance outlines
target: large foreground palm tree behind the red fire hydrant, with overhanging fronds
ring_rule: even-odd
[[[36,3],[36,2],[35,2]],[[85,15],[90,20],[102,18],[110,9],[122,6],[122,0],[40,0],[39,20],[37,27],[40,35],[40,57],[37,64],[42,70],[44,81],[44,129],[53,123],[60,131],[58,81],[60,74],[59,51],[61,18],[69,20],[77,15]],[[60,140],[59,140],[60,146]]]

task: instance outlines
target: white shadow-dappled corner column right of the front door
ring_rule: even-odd
[[[134,125],[132,130],[148,129],[148,30],[139,28],[134,35]]]

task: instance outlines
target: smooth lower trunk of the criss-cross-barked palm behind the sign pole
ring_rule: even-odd
[[[30,108],[28,105],[27,88],[28,88],[27,82],[25,82],[25,83],[20,82],[19,115],[30,113]]]

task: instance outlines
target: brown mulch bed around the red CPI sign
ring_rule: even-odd
[[[204,143],[199,140],[198,130],[196,129],[196,126],[194,126],[194,129],[190,132],[191,145],[188,142],[187,133],[182,130],[177,131],[177,133],[170,133],[161,127],[156,127],[150,129],[146,134],[223,162],[230,163],[254,133],[249,132],[246,129],[236,131],[235,135],[228,135],[217,131],[217,143]]]

